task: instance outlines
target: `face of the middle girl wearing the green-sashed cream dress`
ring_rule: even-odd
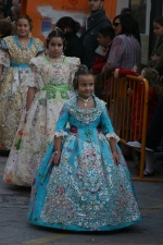
[[[51,58],[60,58],[63,51],[63,40],[61,37],[52,37],[48,46],[49,56]]]

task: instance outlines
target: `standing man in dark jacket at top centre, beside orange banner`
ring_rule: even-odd
[[[98,32],[104,26],[112,26],[103,10],[104,0],[88,0],[90,16],[86,22],[86,30],[82,34],[82,41],[85,48],[85,56],[82,63],[91,69],[95,61],[95,50],[98,48]]]

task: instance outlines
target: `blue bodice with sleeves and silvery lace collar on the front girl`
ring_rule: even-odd
[[[85,140],[95,140],[99,135],[112,134],[116,139],[114,128],[109,119],[105,102],[95,97],[96,107],[82,109],[78,107],[77,97],[67,100],[60,113],[55,132],[65,131],[70,123],[70,135],[79,136]],[[57,133],[57,135],[60,135]],[[62,135],[62,133],[61,133]]]

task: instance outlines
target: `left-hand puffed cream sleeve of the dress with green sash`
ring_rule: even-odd
[[[41,77],[41,64],[42,64],[42,58],[37,57],[33,58],[29,61],[29,74],[25,82],[25,85],[27,87],[36,87],[37,90],[41,90],[45,87],[43,79]]]

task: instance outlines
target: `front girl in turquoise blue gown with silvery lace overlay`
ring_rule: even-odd
[[[52,144],[34,179],[28,219],[72,231],[112,231],[141,220],[130,175],[95,76],[79,66],[77,95],[60,112]],[[68,126],[67,126],[68,123]]]

